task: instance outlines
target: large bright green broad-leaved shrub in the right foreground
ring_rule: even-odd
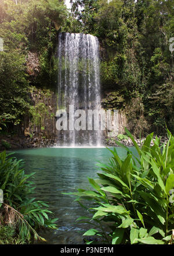
[[[99,243],[106,244],[171,244],[174,138],[168,131],[168,143],[161,145],[160,139],[157,136],[153,139],[152,133],[139,147],[131,133],[125,131],[132,139],[138,157],[117,142],[127,151],[125,159],[118,156],[115,148],[108,149],[113,155],[110,163],[99,164],[103,170],[103,173],[97,173],[99,178],[89,178],[95,191],[78,189],[73,193],[80,205],[84,206],[83,199],[90,202],[88,212],[91,216],[78,219],[94,227],[84,236],[98,237]]]

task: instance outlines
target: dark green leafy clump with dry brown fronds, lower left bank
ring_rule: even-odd
[[[13,238],[29,241],[41,239],[37,233],[40,227],[55,229],[55,221],[50,219],[49,205],[43,201],[35,201],[31,195],[34,192],[31,178],[34,173],[25,174],[21,166],[22,160],[0,153],[0,188],[3,190],[3,204],[0,207],[0,236],[2,229],[12,226]],[[8,239],[8,234],[4,239]]]

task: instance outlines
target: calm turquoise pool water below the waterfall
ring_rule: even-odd
[[[125,150],[117,148],[121,157]],[[24,160],[26,173],[35,172],[35,198],[46,201],[54,213],[59,229],[40,232],[48,244],[83,244],[82,234],[89,226],[75,220],[85,214],[74,197],[62,192],[89,188],[88,177],[97,177],[97,162],[107,163],[111,153],[106,148],[41,148],[16,150],[14,156]]]

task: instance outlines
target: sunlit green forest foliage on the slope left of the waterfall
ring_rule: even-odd
[[[0,36],[0,119],[1,129],[19,125],[30,109],[30,83],[44,87],[56,83],[56,27],[67,16],[63,1],[2,0]],[[38,57],[38,72],[28,72],[28,54]],[[35,59],[31,59],[33,65]],[[30,67],[31,68],[31,67]],[[28,75],[29,73],[29,75]]]

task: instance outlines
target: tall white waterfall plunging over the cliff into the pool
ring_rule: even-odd
[[[58,58],[58,109],[64,109],[68,117],[67,131],[60,131],[57,141],[63,146],[100,146],[101,129],[88,129],[88,110],[100,110],[100,59],[99,41],[90,34],[59,33]],[[85,129],[70,129],[70,107],[74,112],[86,113]],[[84,113],[84,112],[83,112]],[[94,117],[92,117],[94,119]],[[93,119],[90,121],[93,121]],[[99,121],[101,117],[99,117]],[[74,127],[74,125],[73,125]]]

